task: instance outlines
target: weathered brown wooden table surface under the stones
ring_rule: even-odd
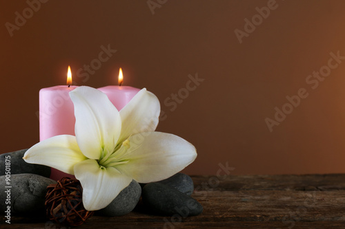
[[[345,174],[192,176],[196,217],[133,211],[93,216],[79,228],[345,228]],[[43,217],[11,217],[0,228],[66,228]]]

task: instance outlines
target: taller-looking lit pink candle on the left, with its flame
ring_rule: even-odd
[[[68,85],[43,88],[39,91],[39,140],[43,141],[56,135],[75,135],[75,111],[70,91],[77,86],[70,86],[72,76],[68,66]],[[51,179],[72,177],[67,173],[52,168]]]

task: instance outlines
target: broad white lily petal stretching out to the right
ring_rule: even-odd
[[[181,171],[197,157],[193,144],[170,133],[137,133],[128,140],[129,142],[119,149],[124,152],[124,147],[127,148],[119,160],[128,162],[115,167],[140,183],[166,179]]]

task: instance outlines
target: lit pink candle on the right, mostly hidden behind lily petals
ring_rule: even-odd
[[[126,104],[140,91],[140,89],[135,87],[121,86],[124,80],[122,75],[122,69],[119,71],[119,85],[120,86],[106,86],[98,88],[99,91],[102,91],[106,94],[112,104],[121,110]]]

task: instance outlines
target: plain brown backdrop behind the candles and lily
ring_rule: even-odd
[[[33,0],[32,0],[33,1]],[[155,0],[152,0],[155,1]],[[156,2],[156,1],[155,1]],[[117,52],[77,85],[146,87],[166,113],[158,130],[197,147],[186,173],[344,173],[345,63],[312,89],[306,77],[327,65],[330,52],[345,56],[345,1],[277,0],[276,9],[239,43],[234,30],[268,1],[48,1],[11,37],[26,1],[1,1],[0,153],[39,141],[38,93],[63,85],[98,58],[101,45]],[[166,98],[186,87],[188,74],[204,81],[175,111]],[[268,130],[286,96],[308,97]]]

